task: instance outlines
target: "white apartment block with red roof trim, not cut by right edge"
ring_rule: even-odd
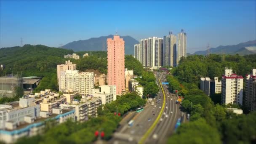
[[[232,73],[232,69],[225,69],[221,80],[222,104],[243,105],[243,76]]]

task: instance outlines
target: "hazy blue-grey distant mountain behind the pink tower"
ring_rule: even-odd
[[[139,41],[131,36],[120,36],[125,41],[125,54],[134,54],[134,45]],[[107,38],[113,38],[113,35],[94,37],[88,40],[78,40],[61,48],[72,49],[73,51],[107,51]]]

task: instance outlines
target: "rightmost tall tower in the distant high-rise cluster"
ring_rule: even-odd
[[[187,57],[187,34],[181,29],[181,32],[178,34],[178,50],[177,50],[177,61],[176,64],[179,64],[181,57]]]

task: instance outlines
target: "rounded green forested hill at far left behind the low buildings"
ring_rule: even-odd
[[[23,47],[1,48],[0,64],[5,70],[0,74],[13,74],[24,71],[52,72],[57,64],[65,62],[64,55],[72,50],[50,48],[45,45],[24,45]]]

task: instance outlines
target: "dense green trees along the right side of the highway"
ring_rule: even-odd
[[[190,122],[181,124],[168,139],[169,144],[256,143],[256,112],[248,113],[243,107],[248,114],[236,115],[226,107],[239,106],[220,105],[220,94],[210,98],[199,90],[200,77],[221,78],[225,67],[245,77],[256,68],[256,55],[228,55],[225,61],[221,61],[219,55],[188,56],[172,69],[173,75],[168,76],[169,89],[171,92],[179,90],[179,95],[184,96],[181,105],[190,114]]]

